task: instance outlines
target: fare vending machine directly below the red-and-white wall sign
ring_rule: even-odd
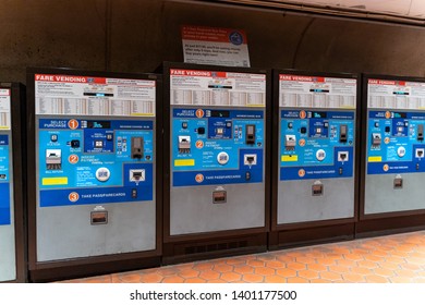
[[[166,63],[165,261],[266,249],[268,73]]]

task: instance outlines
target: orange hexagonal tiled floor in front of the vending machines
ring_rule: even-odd
[[[425,231],[195,261],[68,283],[425,283]]]

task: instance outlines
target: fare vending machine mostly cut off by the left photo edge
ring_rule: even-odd
[[[27,279],[22,160],[24,99],[22,84],[0,83],[0,283]]]

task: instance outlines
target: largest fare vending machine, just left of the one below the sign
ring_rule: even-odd
[[[159,265],[159,76],[27,75],[31,280]]]

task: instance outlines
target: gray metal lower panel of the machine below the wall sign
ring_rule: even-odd
[[[171,187],[171,235],[265,225],[264,183],[222,185],[226,204],[212,204],[216,187]]]

